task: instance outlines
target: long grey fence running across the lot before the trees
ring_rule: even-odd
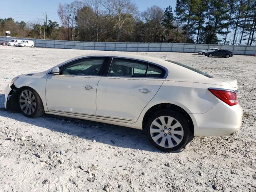
[[[33,40],[35,47],[84,49],[104,51],[135,51],[135,52],[186,52],[197,53],[207,48],[218,48],[233,51],[238,55],[256,54],[256,46],[246,45],[216,45],[216,44],[186,44],[186,43],[115,43],[115,42],[79,42],[61,40],[42,40],[31,38],[6,38],[0,37],[0,41],[11,39]]]

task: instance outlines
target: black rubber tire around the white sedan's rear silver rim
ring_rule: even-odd
[[[160,146],[159,144],[157,144],[153,138],[152,138],[152,133],[150,133],[150,127],[152,125],[152,122],[154,120],[156,120],[158,117],[161,117],[161,116],[169,116],[169,117],[172,117],[174,118],[175,120],[177,120],[181,126],[182,126],[182,129],[183,129],[183,137],[182,137],[182,140],[179,144],[177,144],[176,146],[172,147],[172,148],[168,148],[166,147],[166,141],[167,141],[167,137],[168,137],[168,134],[166,134],[166,140],[165,140],[165,147],[162,147]],[[180,150],[181,148],[183,148],[187,142],[188,142],[188,138],[190,136],[190,130],[189,130],[189,125],[188,125],[188,121],[186,120],[185,116],[182,115],[180,112],[177,112],[175,110],[161,110],[159,112],[156,112],[154,114],[152,114],[150,116],[150,118],[148,118],[148,121],[146,122],[145,124],[145,127],[144,127],[145,131],[146,131],[146,134],[148,136],[148,139],[150,140],[150,142],[158,149],[160,150],[163,150],[163,151],[167,151],[167,152],[172,152],[172,151],[176,151],[176,150]],[[161,129],[161,128],[159,128]],[[176,128],[174,128],[175,130]],[[167,129],[166,129],[167,130]],[[170,129],[169,129],[170,130]],[[163,132],[163,131],[162,131]],[[170,136],[171,137],[171,136]],[[160,137],[163,139],[163,137]],[[161,140],[162,140],[161,139]],[[173,143],[173,139],[170,138],[170,140],[172,140],[172,143]],[[167,141],[168,142],[168,141]]]

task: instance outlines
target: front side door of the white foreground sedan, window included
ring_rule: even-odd
[[[96,89],[106,58],[82,58],[48,76],[46,103],[50,112],[96,118]]]

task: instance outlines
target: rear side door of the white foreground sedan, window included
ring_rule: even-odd
[[[113,58],[107,76],[97,88],[97,118],[136,122],[143,108],[156,95],[167,70],[138,60]]]

